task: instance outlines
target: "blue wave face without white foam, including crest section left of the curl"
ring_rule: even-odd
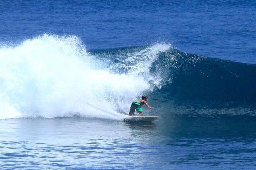
[[[142,49],[146,47],[96,50],[93,53],[108,58],[109,63],[113,63],[109,69],[114,68],[115,73],[148,70],[140,73],[147,73],[144,78],[150,75],[156,80],[146,81],[150,84],[146,93],[156,106],[153,114],[256,115],[255,64],[187,54],[171,46],[160,50],[163,46],[150,47],[159,50],[154,60],[144,57]],[[139,60],[131,63],[130,56]]]

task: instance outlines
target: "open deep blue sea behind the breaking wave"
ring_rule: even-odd
[[[256,63],[255,1],[4,1],[1,40],[79,36],[89,49],[167,42],[183,52]]]

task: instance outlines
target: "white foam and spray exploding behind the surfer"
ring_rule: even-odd
[[[76,36],[43,35],[16,47],[0,49],[0,119],[85,117],[120,120],[130,101],[150,88],[148,69],[158,51],[126,74],[115,74],[87,53]],[[104,62],[104,61],[103,61]],[[142,74],[138,74],[142,73]],[[143,86],[141,85],[143,84]]]

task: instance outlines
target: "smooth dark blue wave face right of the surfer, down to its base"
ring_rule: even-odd
[[[256,115],[256,65],[161,52],[152,63],[164,86],[152,95],[163,110],[190,115]]]

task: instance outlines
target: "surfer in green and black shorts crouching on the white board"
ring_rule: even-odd
[[[142,99],[138,99],[132,102],[131,107],[130,107],[130,112],[129,112],[129,116],[134,115],[135,110],[137,111],[137,113],[139,114],[139,116],[143,115],[142,112],[142,106],[145,104],[148,108],[150,109],[154,109],[154,107],[150,107],[147,103],[148,97],[143,95]]]

